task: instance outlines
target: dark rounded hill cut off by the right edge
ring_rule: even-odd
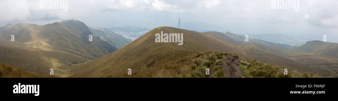
[[[338,77],[338,43],[309,41],[302,46],[284,50],[283,53],[289,59]]]

